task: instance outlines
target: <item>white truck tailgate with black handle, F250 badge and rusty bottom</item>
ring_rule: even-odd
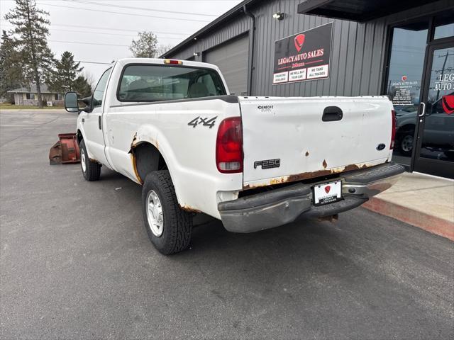
[[[374,166],[391,156],[392,103],[384,96],[240,97],[240,109],[245,188]]]

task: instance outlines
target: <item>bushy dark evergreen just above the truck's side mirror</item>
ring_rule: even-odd
[[[57,92],[74,90],[74,81],[82,69],[80,62],[74,62],[74,55],[71,52],[63,52],[61,59],[55,60],[55,70],[48,80],[50,89]]]

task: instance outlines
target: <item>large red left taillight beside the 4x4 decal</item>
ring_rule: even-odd
[[[243,171],[243,128],[240,117],[226,118],[219,125],[216,166],[223,174]]]

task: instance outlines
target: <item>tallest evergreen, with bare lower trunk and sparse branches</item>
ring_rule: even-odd
[[[17,37],[24,76],[36,84],[40,108],[43,107],[40,84],[50,72],[53,62],[53,54],[48,46],[48,15],[48,12],[36,7],[35,0],[16,0],[16,7],[5,16],[6,20],[16,26],[11,33]]]

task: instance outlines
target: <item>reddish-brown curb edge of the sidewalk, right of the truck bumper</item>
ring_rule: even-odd
[[[392,217],[419,227],[441,237],[454,241],[454,223],[443,218],[428,215],[425,212],[412,210],[381,198],[371,198],[362,205],[364,208],[378,212],[381,215]]]

